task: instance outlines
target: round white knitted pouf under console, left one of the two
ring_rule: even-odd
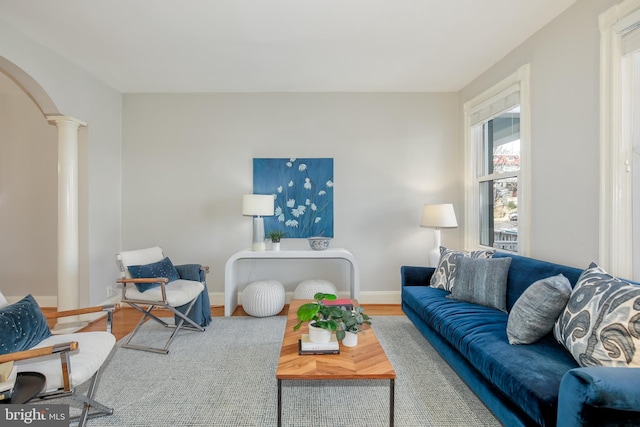
[[[242,291],[242,308],[254,317],[275,316],[284,308],[284,285],[277,280],[251,282]]]

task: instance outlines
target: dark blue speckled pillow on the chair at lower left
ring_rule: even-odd
[[[0,309],[0,354],[29,350],[51,335],[47,319],[31,294]]]

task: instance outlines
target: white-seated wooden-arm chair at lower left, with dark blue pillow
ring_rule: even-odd
[[[14,361],[18,373],[39,372],[46,378],[46,385],[34,400],[71,397],[82,405],[80,416],[72,420],[78,426],[88,419],[111,415],[113,409],[94,400],[100,368],[115,345],[111,334],[111,321],[115,305],[89,307],[78,310],[47,313],[43,315],[31,295],[8,304],[0,293],[0,363]],[[46,319],[78,316],[94,312],[107,313],[107,331],[76,332],[51,335]],[[26,339],[26,341],[25,341]],[[38,342],[39,341],[39,342]],[[36,343],[35,345],[32,345]],[[27,347],[27,348],[25,348]],[[7,352],[8,349],[19,351]],[[86,394],[77,387],[90,381]]]

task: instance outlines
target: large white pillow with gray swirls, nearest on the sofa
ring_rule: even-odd
[[[640,286],[591,263],[553,334],[581,366],[640,366]]]

